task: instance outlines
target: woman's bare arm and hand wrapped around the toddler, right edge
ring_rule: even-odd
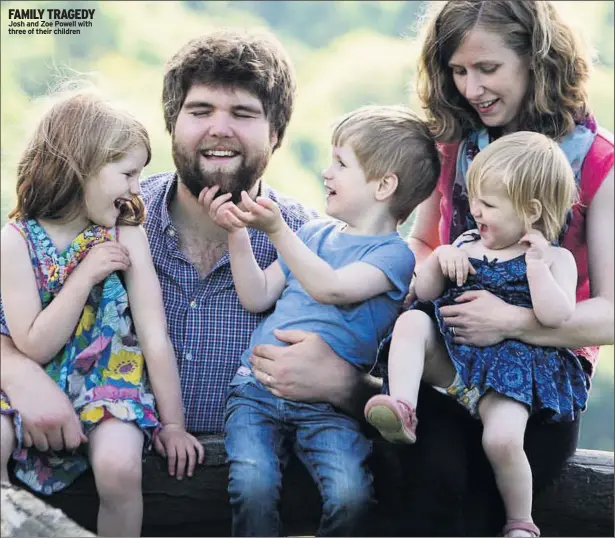
[[[457,299],[460,304],[440,309],[444,321],[456,328],[455,341],[484,346],[515,338],[537,346],[612,345],[613,194],[611,169],[586,214],[591,298],[577,303],[564,324],[550,329],[530,309],[509,305],[487,291],[466,292]]]

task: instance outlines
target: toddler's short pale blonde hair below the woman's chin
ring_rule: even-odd
[[[566,155],[557,142],[540,133],[518,131],[483,149],[468,171],[470,199],[488,185],[502,186],[525,227],[540,230],[548,241],[560,235],[569,209],[577,201],[577,185]],[[530,202],[542,204],[532,224]]]

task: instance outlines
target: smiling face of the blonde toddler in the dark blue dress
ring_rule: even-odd
[[[470,198],[470,212],[483,244],[492,250],[518,243],[529,231],[502,185],[482,185],[480,196]]]

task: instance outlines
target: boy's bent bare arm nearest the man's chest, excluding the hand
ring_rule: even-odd
[[[280,263],[275,261],[264,271],[260,268],[246,228],[228,234],[228,251],[235,290],[242,306],[248,312],[269,310],[286,284]]]

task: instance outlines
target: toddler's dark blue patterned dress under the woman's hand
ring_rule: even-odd
[[[476,417],[478,401],[491,389],[525,404],[531,414],[540,413],[545,421],[574,420],[587,406],[590,378],[570,350],[538,347],[519,340],[485,347],[453,342],[440,307],[456,304],[455,298],[466,291],[487,290],[507,303],[532,308],[525,254],[502,262],[486,258],[470,261],[476,275],[468,275],[464,285],[451,283],[435,301],[417,301],[411,306],[429,313],[440,329],[457,371],[448,394]]]

